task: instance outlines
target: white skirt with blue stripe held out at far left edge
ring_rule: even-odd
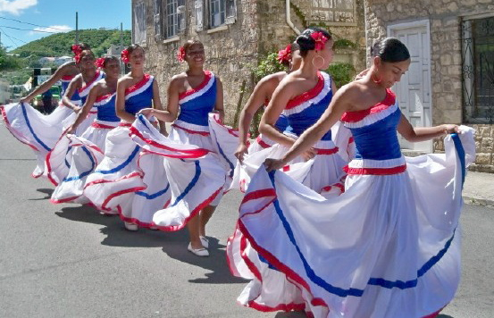
[[[34,178],[46,176],[46,155],[62,136],[63,130],[75,120],[76,113],[68,107],[59,105],[53,113],[44,115],[26,103],[0,106],[0,111],[5,127],[13,134],[13,137],[30,146],[37,156],[38,164],[32,176]],[[91,114],[81,126],[88,127],[94,120],[93,116],[95,115]],[[82,129],[84,127],[78,131],[84,131]]]

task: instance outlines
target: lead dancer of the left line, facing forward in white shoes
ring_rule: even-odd
[[[205,149],[207,155],[195,161],[181,160],[180,155],[176,159],[168,156],[165,167],[174,203],[155,213],[153,222],[163,230],[179,230],[187,224],[188,250],[195,255],[207,256],[205,225],[224,188],[230,186],[230,175],[237,159],[233,152],[239,136],[238,132],[222,125],[222,81],[213,72],[204,70],[203,44],[197,40],[187,41],[180,47],[179,59],[187,62],[188,70],[173,76],[168,87],[166,111],[145,109],[141,113],[173,121],[170,139],[181,145]],[[161,142],[151,137],[138,139],[149,146]],[[166,145],[155,147],[155,153],[160,149],[167,149]]]

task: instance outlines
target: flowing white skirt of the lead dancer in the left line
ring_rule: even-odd
[[[158,170],[166,175],[171,197],[164,207],[155,209],[152,215],[151,225],[159,230],[180,230],[205,206],[217,205],[231,171],[227,160],[216,149],[221,148],[228,158],[228,149],[238,140],[225,146],[212,137],[227,128],[219,127],[213,135],[208,128],[200,131],[196,125],[193,126],[176,121],[170,136],[166,138],[140,115],[130,129],[132,138],[139,146],[162,157]]]

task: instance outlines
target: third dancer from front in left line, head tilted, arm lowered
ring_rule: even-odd
[[[115,113],[115,92],[120,77],[120,61],[114,56],[102,58],[105,79],[100,79],[89,91],[86,103],[74,123],[63,133],[54,148],[46,155],[48,179],[55,188],[52,203],[88,203],[82,197],[87,176],[103,160],[106,135],[117,127],[120,118]],[[99,59],[98,59],[99,60]],[[88,113],[97,109],[96,119],[80,137],[73,133]]]

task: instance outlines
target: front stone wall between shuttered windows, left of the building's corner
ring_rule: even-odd
[[[136,0],[132,0],[135,3]],[[163,105],[166,88],[174,74],[186,71],[186,64],[179,63],[176,54],[179,46],[190,38],[205,46],[205,69],[213,71],[224,86],[225,120],[232,123],[239,102],[244,79],[250,79],[250,67],[257,63],[257,4],[255,0],[237,2],[237,21],[225,28],[196,30],[194,1],[186,1],[187,29],[172,40],[155,39],[152,19],[153,1],[147,4],[147,72],[159,80]],[[245,102],[245,101],[244,101]]]

